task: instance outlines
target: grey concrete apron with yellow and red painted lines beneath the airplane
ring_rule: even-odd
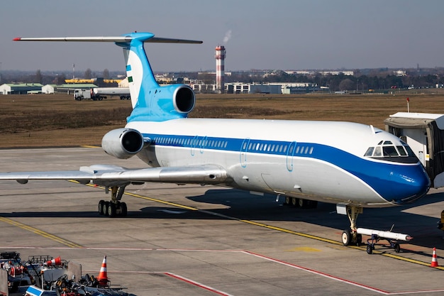
[[[0,150],[0,170],[143,168],[101,148]],[[127,187],[128,216],[100,216],[103,187],[70,181],[0,181],[0,251],[61,256],[98,275],[104,256],[112,285],[130,295],[443,295],[444,240],[436,223],[444,191],[404,207],[364,209],[357,226],[413,236],[401,251],[379,241],[343,246],[350,225],[335,204],[283,205],[224,187],[145,183]],[[369,239],[364,236],[364,242]],[[436,248],[438,264],[432,268]]]

